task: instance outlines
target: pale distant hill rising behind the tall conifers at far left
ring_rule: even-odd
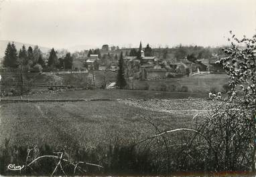
[[[7,41],[7,40],[0,40],[0,57],[3,57],[5,55],[5,49],[7,47],[7,44],[8,43],[14,43],[15,46],[16,46],[16,49],[17,49],[17,52],[19,52],[19,49],[21,49],[22,45],[25,45],[26,49],[31,46],[34,48],[34,44],[30,44],[30,43],[21,43],[21,42],[17,42],[17,41]],[[48,47],[42,47],[40,45],[38,45],[38,47],[40,48],[40,50],[43,52],[43,53],[47,53],[50,48]]]

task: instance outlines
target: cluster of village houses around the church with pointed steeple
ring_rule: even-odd
[[[101,51],[104,54],[101,58],[99,54],[90,54],[86,57],[76,55],[73,58],[71,70],[77,72],[88,72],[92,70],[117,71],[117,53],[113,53],[113,57],[111,57],[109,48],[108,45],[107,49],[106,45],[103,45]],[[168,77],[189,77],[210,73],[225,73],[221,65],[216,63],[219,59],[218,55],[212,54],[208,58],[196,59],[194,61],[188,60],[187,56],[185,56],[183,59],[177,61],[177,59],[163,59],[163,57],[153,56],[151,53],[145,55],[145,49],[141,47],[141,43],[137,51],[139,54],[135,53],[137,55],[128,55],[127,51],[131,49],[121,49],[121,51],[126,51],[123,61],[125,77],[127,79],[157,80]]]

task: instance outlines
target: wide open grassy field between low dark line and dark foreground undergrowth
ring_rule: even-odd
[[[202,102],[204,106],[200,106]],[[0,144],[8,138],[11,144],[19,145],[74,144],[92,148],[98,145],[107,146],[115,138],[138,141],[154,134],[155,130],[137,115],[145,116],[162,130],[188,128],[192,125],[190,123],[194,114],[208,109],[206,105],[209,104],[208,101],[202,100],[166,100],[151,103],[99,101],[1,104]],[[151,106],[155,105],[162,110],[179,108],[180,114],[151,109]],[[194,111],[195,108],[197,111]]]

